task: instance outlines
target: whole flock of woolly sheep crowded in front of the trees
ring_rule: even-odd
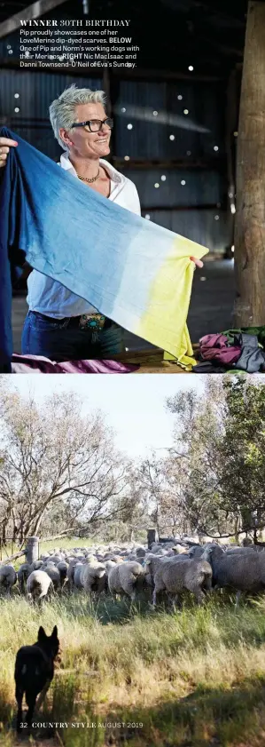
[[[28,600],[42,602],[51,592],[84,590],[87,594],[125,595],[133,602],[146,593],[152,606],[166,592],[173,607],[183,592],[191,592],[198,604],[207,592],[229,588],[236,592],[265,589],[265,550],[245,541],[244,546],[222,547],[175,539],[143,544],[110,544],[46,552],[31,565],[0,566],[0,593],[19,585]]]

